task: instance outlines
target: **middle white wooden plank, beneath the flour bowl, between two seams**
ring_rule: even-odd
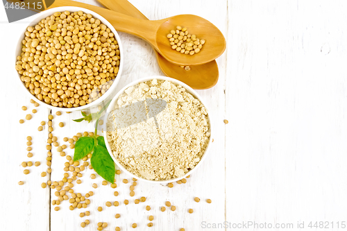
[[[84,1],[90,3],[91,1]],[[196,1],[197,2],[197,1]],[[195,2],[195,3],[196,3]],[[94,2],[93,2],[94,3]],[[135,6],[144,6],[142,1],[132,1]],[[183,8],[183,5],[186,3],[179,2],[178,6],[174,10],[169,5],[160,3],[160,1],[154,1],[151,3],[146,3],[152,6],[152,8],[160,8],[160,12],[153,14],[153,10],[144,11],[144,14],[150,18],[157,19],[162,17],[169,17],[166,15],[167,12],[170,12],[172,15],[186,13],[187,10]],[[192,3],[192,6],[194,4]],[[196,5],[196,4],[195,4]],[[208,6],[208,7],[206,7]],[[219,4],[212,4],[208,1],[204,1],[203,5],[198,8],[189,7],[192,9],[190,13],[200,15],[202,17],[208,18],[212,23],[219,26],[221,31],[226,32],[226,2],[221,2]],[[223,12],[220,12],[219,15],[211,15],[207,9],[213,9],[217,11],[219,8],[223,8]],[[223,15],[220,17],[220,15]],[[142,78],[145,76],[153,76],[162,74],[157,62],[155,61],[155,56],[151,47],[146,44],[146,42],[133,37],[132,35],[126,35],[120,33],[121,42],[124,45],[124,74],[121,76],[119,82],[119,87],[117,90],[121,89],[124,85],[130,83],[137,78]],[[136,57],[136,58],[134,58]],[[109,230],[115,230],[116,226],[121,227],[121,230],[130,230],[130,225],[132,223],[137,223],[137,228],[144,230],[146,224],[149,223],[148,216],[153,215],[155,217],[153,223],[153,230],[162,230],[163,228],[171,227],[174,230],[179,230],[179,228],[186,228],[186,230],[198,230],[201,228],[201,222],[207,220],[217,220],[224,219],[224,176],[225,176],[225,166],[224,166],[224,126],[217,123],[223,118],[224,112],[224,81],[225,81],[225,67],[226,67],[226,56],[219,58],[218,63],[220,67],[220,80],[216,87],[209,90],[199,91],[198,93],[203,96],[205,101],[208,103],[210,108],[210,113],[214,119],[214,139],[210,156],[203,163],[203,166],[200,167],[194,173],[192,178],[187,179],[187,184],[185,185],[176,185],[172,189],[169,189],[166,185],[151,185],[143,182],[137,181],[137,186],[135,187],[135,196],[132,198],[129,196],[129,186],[130,183],[125,185],[121,182],[124,178],[128,179],[129,182],[131,178],[125,173],[122,173],[120,176],[117,176],[117,189],[111,189],[110,186],[101,185],[102,179],[98,176],[95,180],[90,179],[90,169],[83,174],[81,178],[83,184],[75,184],[77,191],[87,192],[89,190],[94,191],[95,196],[90,198],[91,205],[87,209],[75,209],[74,211],[69,211],[68,203],[64,202],[63,206],[60,206],[61,209],[59,212],[52,211],[51,213],[51,230],[76,230],[80,227],[80,224],[85,219],[90,219],[91,224],[87,225],[84,230],[95,230],[96,223],[98,222],[107,222]],[[215,97],[211,97],[214,94]],[[217,103],[216,103],[217,102]],[[222,113],[219,113],[222,112]],[[79,117],[78,112],[73,112],[71,114],[63,114],[61,117],[57,117],[59,121],[66,121],[65,129],[57,128],[54,130],[54,134],[58,139],[69,135],[76,134],[76,132],[83,132],[84,130],[91,130],[92,127],[86,123],[76,124],[71,121],[71,119],[76,119]],[[55,121],[56,119],[53,119]],[[69,128],[69,131],[67,131]],[[68,132],[68,133],[67,133]],[[67,150],[67,153],[72,155],[72,152]],[[57,156],[58,153],[53,152],[53,156]],[[58,156],[58,160],[53,161],[53,175],[55,179],[59,180],[62,178],[62,168],[65,162],[64,157]],[[97,189],[91,187],[92,183],[96,182],[98,185]],[[74,189],[75,189],[74,187]],[[114,191],[119,191],[119,196],[115,197],[113,195]],[[53,192],[52,192],[53,195]],[[141,196],[145,196],[146,202],[140,203],[139,205],[134,204],[134,200]],[[194,202],[194,196],[201,198],[201,203]],[[53,197],[53,196],[52,196]],[[205,202],[207,198],[211,198],[213,203],[208,204]],[[124,200],[129,200],[129,205],[124,205]],[[105,202],[110,201],[114,202],[115,200],[119,201],[119,207],[106,207]],[[160,212],[160,207],[164,206],[166,200],[171,201],[173,205],[176,205],[176,212],[172,212],[167,208],[166,212]],[[147,212],[145,207],[146,205],[151,206],[151,211]],[[97,212],[97,207],[103,207],[103,212]],[[193,208],[194,213],[189,214],[187,209]],[[90,210],[91,216],[84,217],[83,219],[78,217],[80,212],[85,210]],[[121,214],[121,218],[115,219],[115,214]],[[146,228],[148,229],[148,228]]]

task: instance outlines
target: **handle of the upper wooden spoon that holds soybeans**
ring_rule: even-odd
[[[71,0],[56,0],[49,8],[56,8],[59,6],[77,6],[92,10],[108,20],[108,22],[110,22],[110,24],[112,24],[117,31],[141,37],[155,46],[155,35],[160,26],[158,23],[153,21],[149,22],[148,20],[144,19],[137,19],[128,15],[123,15],[119,12],[101,8],[99,6],[92,6],[86,3]]]

